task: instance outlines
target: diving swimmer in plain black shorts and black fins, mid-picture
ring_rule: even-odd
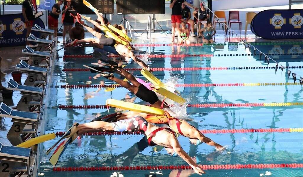
[[[89,67],[86,65],[85,67],[91,69],[92,72],[99,72],[106,79],[110,79],[112,81],[117,82],[118,84],[122,85],[123,87],[127,88],[130,92],[135,94],[138,98],[150,103],[152,107],[161,108],[163,106],[163,108],[169,108],[167,104],[162,104],[162,101],[159,100],[155,92],[149,90],[143,84],[138,82],[137,79],[131,73],[129,73],[122,67],[118,67],[118,64],[114,61],[108,61],[108,62],[111,64],[113,68],[108,69],[104,67]],[[121,76],[124,76],[130,82],[132,82],[132,84],[123,81],[121,79],[118,79],[112,73],[107,73],[107,72],[116,72]]]

